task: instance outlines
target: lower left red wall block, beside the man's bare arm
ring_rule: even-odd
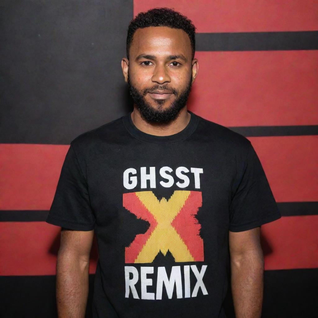
[[[60,227],[45,222],[0,222],[0,275],[55,275]],[[89,272],[96,271],[96,242]]]

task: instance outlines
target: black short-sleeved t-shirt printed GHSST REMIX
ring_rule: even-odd
[[[71,142],[46,222],[95,230],[93,317],[225,317],[229,231],[281,217],[251,142],[189,113],[174,135],[129,113]]]

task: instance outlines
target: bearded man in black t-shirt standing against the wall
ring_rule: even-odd
[[[131,21],[134,110],[71,142],[47,218],[63,228],[59,317],[85,315],[94,233],[93,317],[225,317],[228,270],[236,317],[260,317],[260,225],[281,215],[251,143],[187,110],[194,52],[173,10]]]

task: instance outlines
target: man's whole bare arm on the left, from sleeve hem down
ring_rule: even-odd
[[[93,236],[94,230],[61,229],[56,265],[56,302],[59,318],[85,317]]]

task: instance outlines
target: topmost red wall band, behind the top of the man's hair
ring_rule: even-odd
[[[318,30],[317,1],[134,0],[134,16],[158,7],[173,8],[186,15],[197,32]]]

